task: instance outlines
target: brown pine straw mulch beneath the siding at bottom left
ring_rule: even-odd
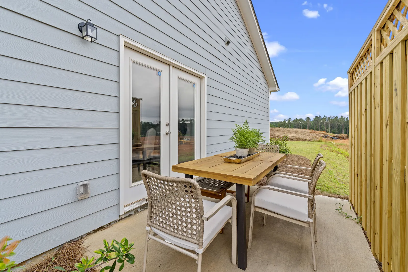
[[[65,270],[74,271],[75,263],[80,263],[81,258],[86,253],[86,247],[83,245],[85,239],[79,239],[71,243],[64,243],[58,250],[51,255],[47,255],[40,261],[32,266],[29,266],[23,272],[61,272],[54,267],[60,266]],[[97,270],[91,269],[89,272],[96,272]]]

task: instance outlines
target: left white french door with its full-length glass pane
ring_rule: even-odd
[[[141,172],[170,175],[170,65],[124,49],[123,163],[124,210],[146,196]]]

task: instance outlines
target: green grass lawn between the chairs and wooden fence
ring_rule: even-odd
[[[288,142],[290,153],[302,155],[313,161],[322,153],[326,169],[317,182],[316,189],[335,195],[348,195],[348,146],[329,142]]]

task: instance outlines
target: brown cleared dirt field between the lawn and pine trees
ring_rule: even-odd
[[[333,140],[333,139],[324,139],[322,136],[324,135],[330,135],[330,136],[335,136],[336,134],[333,133],[327,133],[324,131],[315,131],[315,130],[308,130],[308,129],[301,129],[301,128],[270,128],[270,133],[272,138],[282,138],[285,135],[289,136],[289,141],[294,142],[294,141],[301,141],[301,142],[313,142],[313,141],[318,141],[320,139],[323,139],[325,142],[339,142],[339,143],[344,143],[348,144],[348,139],[339,139],[339,140]],[[347,137],[345,134],[339,134],[341,137]]]

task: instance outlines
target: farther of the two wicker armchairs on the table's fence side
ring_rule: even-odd
[[[281,165],[278,167],[276,172],[273,172],[272,175],[268,178],[268,185],[275,186],[278,188],[292,190],[295,192],[302,192],[307,194],[309,192],[309,184],[302,182],[302,179],[312,179],[313,172],[316,169],[317,163],[320,159],[323,158],[322,153],[318,153],[315,160],[313,161],[312,166],[310,168],[307,167],[300,167],[294,165]],[[297,169],[305,169],[309,170],[308,175],[297,175],[288,172],[279,171],[279,168],[286,166],[290,168],[297,168]],[[298,179],[301,179],[300,181]]]

